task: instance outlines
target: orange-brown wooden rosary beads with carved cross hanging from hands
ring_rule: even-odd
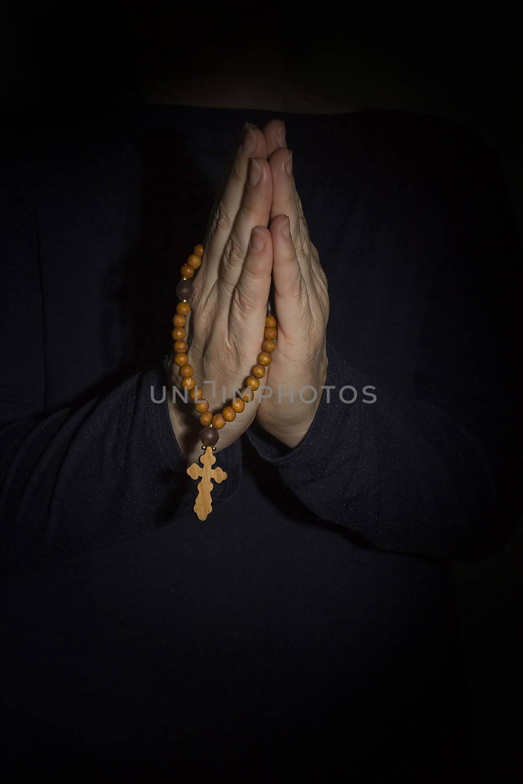
[[[216,451],[220,430],[227,422],[232,422],[236,419],[237,414],[242,413],[245,409],[245,403],[252,401],[254,393],[260,387],[260,379],[263,379],[267,372],[267,365],[271,364],[271,354],[276,348],[276,337],[278,336],[276,319],[271,312],[271,303],[267,303],[263,343],[261,344],[261,351],[258,354],[256,365],[252,365],[252,375],[245,379],[245,389],[240,393],[240,397],[234,397],[231,405],[226,405],[220,413],[212,415],[209,411],[209,401],[204,400],[203,392],[196,386],[193,378],[194,368],[189,365],[187,334],[185,332],[187,315],[191,312],[191,306],[187,302],[192,292],[191,278],[193,278],[195,271],[202,264],[203,250],[203,245],[196,245],[194,252],[187,259],[187,263],[180,267],[182,279],[176,286],[176,296],[180,301],[176,305],[176,314],[173,317],[174,328],[171,333],[175,352],[173,363],[180,368],[181,385],[183,389],[189,390],[189,397],[194,402],[194,406],[200,415],[200,423],[202,423],[202,430],[200,430],[203,449],[203,454],[200,457],[202,466],[198,466],[198,463],[192,463],[187,468],[187,474],[189,474],[191,479],[200,479],[198,482],[198,495],[194,503],[194,511],[198,515],[199,520],[206,520],[207,516],[212,512],[212,481],[220,484],[220,482],[227,479],[227,474],[221,468],[212,468],[213,464],[216,463],[216,457],[212,452]]]

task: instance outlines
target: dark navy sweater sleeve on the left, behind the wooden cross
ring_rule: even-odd
[[[23,180],[0,189],[0,571],[13,574],[176,519],[186,463],[158,359],[78,407],[45,405],[38,220]],[[238,474],[239,444],[221,464]],[[217,497],[234,492],[234,482]]]

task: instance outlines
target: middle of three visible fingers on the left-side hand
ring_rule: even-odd
[[[265,158],[252,158],[249,180],[245,188],[231,235],[223,250],[220,267],[220,286],[231,296],[242,272],[245,254],[249,249],[252,229],[267,226],[272,201],[271,167]]]

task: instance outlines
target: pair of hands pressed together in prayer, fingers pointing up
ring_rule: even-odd
[[[211,412],[229,405],[233,390],[245,387],[256,364],[271,278],[278,320],[277,347],[267,374],[245,410],[220,430],[216,450],[236,441],[255,417],[268,434],[296,448],[314,419],[327,375],[329,296],[296,191],[292,151],[281,120],[271,120],[263,131],[252,123],[244,125],[216,201],[203,240],[202,266],[193,282],[188,323],[189,362]],[[168,369],[169,383],[181,390],[176,370]],[[204,380],[216,383],[216,396]],[[272,388],[271,397],[263,385]],[[300,399],[304,387],[317,391],[314,402]],[[287,396],[291,388],[292,400]],[[189,462],[198,459],[198,413],[191,401],[185,405],[175,396],[173,404],[173,395],[167,397],[180,448]],[[303,390],[302,397],[311,401],[314,393]]]

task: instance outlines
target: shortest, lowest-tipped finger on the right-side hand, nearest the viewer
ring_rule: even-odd
[[[288,216],[278,215],[271,223],[272,278],[278,330],[289,338],[303,321],[304,309],[311,310],[307,285],[289,231]],[[289,236],[286,236],[289,234]]]

